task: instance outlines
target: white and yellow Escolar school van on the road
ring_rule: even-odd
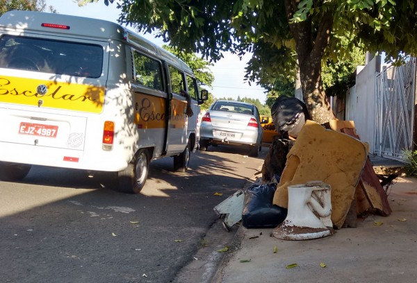
[[[190,118],[181,89],[192,97]],[[183,61],[118,24],[0,17],[1,180],[56,166],[117,172],[117,189],[137,193],[154,159],[174,157],[186,171],[204,99]]]

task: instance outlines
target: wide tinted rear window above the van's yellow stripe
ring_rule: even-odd
[[[0,37],[0,67],[99,78],[103,47],[33,37]]]

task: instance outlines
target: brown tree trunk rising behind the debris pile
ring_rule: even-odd
[[[291,23],[298,3],[299,1],[285,0],[287,19],[295,40],[295,51],[300,64],[302,93],[310,118],[317,123],[324,124],[335,119],[321,79],[321,62],[329,42],[333,17],[332,13],[328,12],[316,27],[313,27],[309,17],[302,22]],[[313,33],[316,37],[313,37]]]

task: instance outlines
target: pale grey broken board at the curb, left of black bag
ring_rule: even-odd
[[[214,207],[220,218],[224,216],[223,226],[229,232],[231,226],[242,220],[245,193],[240,189]]]

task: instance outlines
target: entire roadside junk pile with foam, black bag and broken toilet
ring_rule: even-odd
[[[273,233],[275,237],[279,238],[278,234],[285,232],[280,239],[292,238],[288,230],[302,228],[310,232],[311,229],[305,229],[308,226],[291,224],[288,216],[293,212],[300,214],[302,209],[288,209],[288,187],[292,199],[297,201],[299,196],[294,197],[294,194],[300,191],[293,189],[309,191],[306,187],[328,187],[330,198],[326,198],[327,203],[323,200],[327,191],[311,193],[320,189],[316,188],[310,190],[312,198],[306,198],[301,205],[308,206],[320,221],[326,223],[324,228],[332,232],[342,227],[357,227],[357,216],[364,213],[391,214],[382,182],[392,180],[396,175],[379,181],[368,157],[368,145],[359,140],[353,121],[335,119],[326,126],[319,125],[309,119],[302,101],[288,97],[277,98],[271,113],[277,135],[259,172],[262,178],[246,191],[236,192],[215,207],[215,212],[226,216],[225,228],[241,219],[246,228],[277,227]],[[329,213],[320,215],[318,210]],[[310,211],[307,214],[313,215]],[[278,233],[282,227],[285,229]],[[298,238],[312,239],[309,235],[304,236]]]

